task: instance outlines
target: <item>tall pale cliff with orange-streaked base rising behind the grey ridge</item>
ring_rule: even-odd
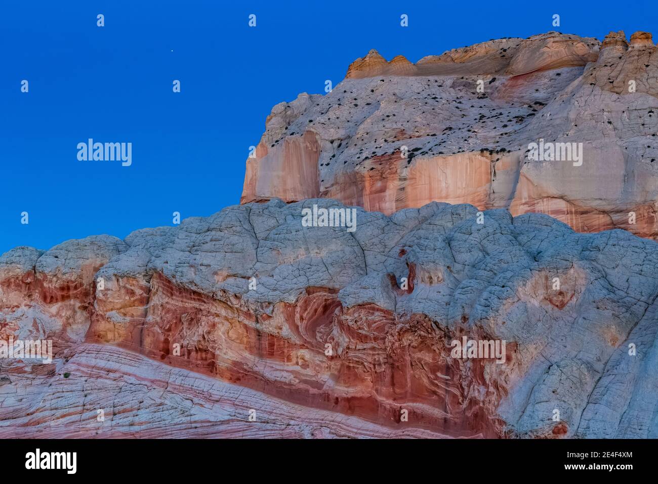
[[[329,94],[272,109],[241,203],[320,196],[388,215],[471,203],[657,238],[655,49],[647,32],[549,32],[416,64],[370,51]],[[531,159],[540,140],[581,146],[582,165]]]

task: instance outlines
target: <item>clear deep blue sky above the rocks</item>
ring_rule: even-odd
[[[326,79],[335,86],[370,49],[415,62],[549,30],[656,35],[657,18],[655,1],[3,1],[0,253],[124,238],[172,225],[174,211],[240,203],[248,149],[272,106],[322,93]],[[132,166],[78,161],[88,138],[132,142]]]

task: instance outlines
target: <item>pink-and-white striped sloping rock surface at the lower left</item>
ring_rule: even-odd
[[[3,370],[0,439],[447,437],[300,406],[116,346],[80,344],[50,365]]]

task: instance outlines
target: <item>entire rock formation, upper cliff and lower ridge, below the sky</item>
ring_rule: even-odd
[[[654,51],[371,51],[241,205],[3,254],[0,437],[657,438]]]

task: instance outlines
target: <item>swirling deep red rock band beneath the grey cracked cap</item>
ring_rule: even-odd
[[[270,317],[159,273],[150,284],[118,279],[99,294],[87,339],[381,425],[399,425],[407,410],[419,429],[501,435],[495,408],[510,376],[500,365],[449,358],[450,341],[461,335],[437,331],[424,315],[401,320],[372,305],[345,309],[333,292],[309,288],[295,304],[276,304]]]

